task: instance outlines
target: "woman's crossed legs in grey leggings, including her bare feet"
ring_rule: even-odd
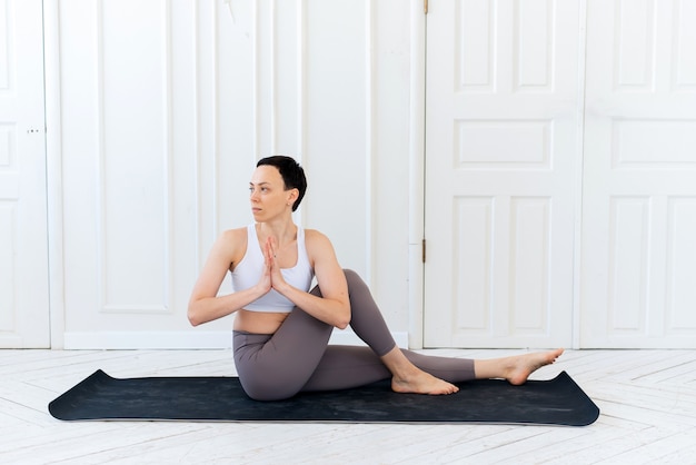
[[[401,350],[367,285],[351,270],[346,270],[346,279],[351,305],[350,326],[369,348],[327,347],[332,327],[299,308],[274,335],[236,333],[235,363],[242,387],[250,397],[281,399],[299,390],[350,388],[389,377],[394,390],[422,394],[458,390],[443,379],[456,383],[505,377],[513,384],[521,384],[529,373],[553,363],[563,352],[470,360]],[[311,293],[321,295],[318,288]]]

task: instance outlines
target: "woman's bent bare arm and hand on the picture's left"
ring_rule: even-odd
[[[230,266],[241,259],[245,244],[245,228],[225,231],[213,244],[189,299],[188,318],[191,325],[198,326],[230,315],[270,290],[270,273],[267,270],[256,286],[217,296]]]

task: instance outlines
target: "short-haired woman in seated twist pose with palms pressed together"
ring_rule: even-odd
[[[225,231],[193,287],[193,326],[230,314],[235,364],[245,392],[275,400],[306,390],[362,386],[391,378],[398,393],[453,394],[451,383],[506,378],[523,384],[563,349],[489,360],[401,350],[369,289],[342,270],[329,239],[292,221],[307,181],[289,157],[257,164],[249,182],[255,224]],[[231,271],[231,294],[218,296]],[[317,286],[309,291],[312,277]],[[368,347],[328,345],[334,327],[352,327]]]

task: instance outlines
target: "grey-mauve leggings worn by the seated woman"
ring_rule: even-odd
[[[396,343],[367,285],[345,270],[352,330],[369,347],[329,345],[334,327],[295,308],[275,334],[235,332],[235,365],[247,395],[279,400],[299,392],[364,386],[391,378],[379,357]],[[311,294],[320,296],[318,287]],[[450,383],[474,379],[474,360],[401,350],[424,372]]]

